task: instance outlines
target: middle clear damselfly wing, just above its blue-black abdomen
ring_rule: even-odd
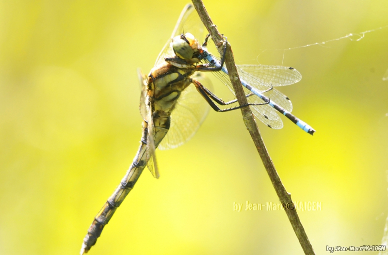
[[[256,67],[259,68],[261,66],[256,65]],[[284,66],[281,66],[281,67],[284,67]],[[264,92],[264,91],[272,88],[270,91],[264,92],[263,93],[264,96],[269,97],[271,101],[275,102],[278,106],[282,107],[287,112],[292,112],[291,100],[286,95],[284,95],[283,93],[278,91],[277,89],[274,89],[273,87],[271,87],[270,84],[272,83],[272,80],[266,81],[267,83],[269,83],[269,85],[264,84],[261,80],[258,80],[256,77],[252,76],[252,74],[247,73],[245,70],[243,70],[241,68],[239,68],[239,75],[240,75],[240,78],[242,80],[244,80],[249,85],[251,85],[252,87],[255,87],[256,89],[258,89],[261,92]],[[276,83],[278,81],[274,80],[274,82]],[[259,103],[255,100],[250,101],[252,99],[257,99],[257,98],[259,98],[259,97],[255,96],[253,98],[248,98],[248,101],[251,103]]]

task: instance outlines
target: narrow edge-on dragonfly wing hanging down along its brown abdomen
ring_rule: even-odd
[[[155,178],[159,178],[159,169],[158,164],[156,162],[156,156],[155,156],[155,128],[154,128],[154,121],[153,121],[153,112],[151,109],[148,111],[147,115],[147,129],[148,129],[148,135],[147,135],[147,167],[151,174]]]

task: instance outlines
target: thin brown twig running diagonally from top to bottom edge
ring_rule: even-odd
[[[218,32],[216,26],[211,21],[210,16],[208,15],[205,6],[202,3],[202,0],[192,0],[194,7],[201,18],[203,24],[208,29],[211,39],[214,41],[214,44],[218,47],[218,50],[221,52],[223,45],[223,37]],[[225,64],[229,73],[229,78],[232,82],[233,89],[235,91],[237,100],[240,105],[247,104],[247,100],[242,90],[242,84],[239,78],[239,74],[234,64],[233,52],[230,47],[229,42],[226,42],[226,55],[225,55]],[[253,142],[255,143],[256,149],[259,152],[260,158],[263,161],[265,170],[267,171],[272,185],[275,188],[276,194],[279,197],[280,202],[285,207],[285,211],[288,219],[290,220],[291,226],[294,229],[296,237],[299,239],[300,245],[302,246],[303,251],[306,255],[315,255],[314,250],[311,246],[310,241],[307,238],[305,229],[303,228],[302,223],[299,220],[298,214],[295,210],[294,204],[291,200],[291,194],[286,191],[283,186],[283,183],[280,180],[279,175],[276,172],[275,165],[272,162],[270,155],[268,154],[267,148],[264,145],[264,142],[261,138],[259,128],[256,125],[256,121],[253,118],[253,114],[249,107],[241,108],[242,119],[244,120],[245,126],[248,129]]]

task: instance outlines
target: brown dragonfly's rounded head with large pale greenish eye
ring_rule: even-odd
[[[193,58],[193,54],[198,51],[199,43],[191,33],[185,33],[173,38],[172,47],[175,54],[185,60]]]

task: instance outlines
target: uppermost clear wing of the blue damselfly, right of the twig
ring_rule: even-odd
[[[302,75],[295,68],[288,66],[242,64],[238,65],[237,69],[239,73],[244,71],[244,76],[247,74],[267,88],[287,86],[302,79]]]

